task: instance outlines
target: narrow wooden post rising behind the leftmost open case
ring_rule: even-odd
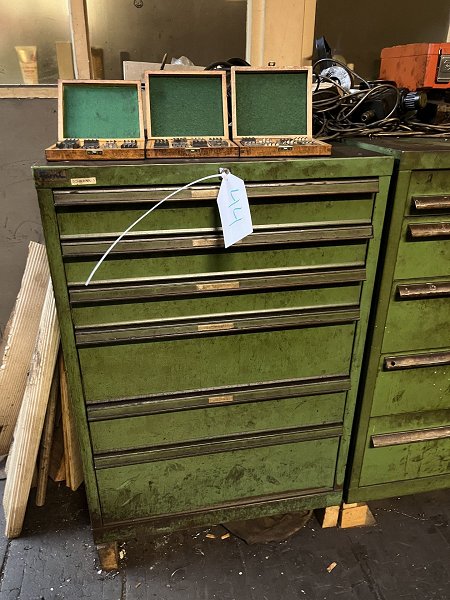
[[[86,0],[69,0],[73,65],[76,79],[91,79],[92,59]]]

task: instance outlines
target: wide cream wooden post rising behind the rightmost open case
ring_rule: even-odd
[[[316,0],[248,0],[246,58],[252,67],[311,64]]]

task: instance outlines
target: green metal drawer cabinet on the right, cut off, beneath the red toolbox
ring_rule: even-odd
[[[396,159],[349,477],[358,502],[450,487],[450,144],[352,143]]]

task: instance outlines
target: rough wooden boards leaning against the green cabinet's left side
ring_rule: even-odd
[[[45,247],[31,242],[0,367],[0,454],[8,454],[5,534],[18,537],[33,485],[45,503],[48,477],[83,481]]]

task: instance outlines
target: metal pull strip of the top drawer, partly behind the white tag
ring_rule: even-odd
[[[54,194],[55,206],[97,206],[111,204],[145,204],[157,202],[166,194],[173,192],[175,186],[161,188],[129,188],[118,192],[110,189],[96,190],[58,190]],[[325,196],[334,194],[349,194],[349,198],[358,194],[375,194],[379,190],[378,178],[354,179],[352,181],[313,181],[289,182],[280,181],[273,183],[246,183],[249,198],[279,198],[283,196]],[[217,198],[218,186],[198,186],[192,190],[185,190],[173,200],[180,202],[189,200],[213,200]]]

